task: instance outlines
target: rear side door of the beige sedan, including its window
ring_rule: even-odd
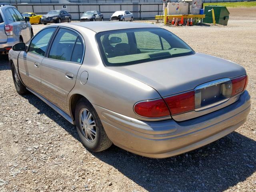
[[[48,56],[42,60],[43,96],[67,112],[66,99],[76,82],[84,55],[84,42],[76,31],[60,27]]]

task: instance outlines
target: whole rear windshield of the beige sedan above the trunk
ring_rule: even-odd
[[[162,28],[113,30],[96,34],[106,66],[125,66],[194,54],[180,38]]]

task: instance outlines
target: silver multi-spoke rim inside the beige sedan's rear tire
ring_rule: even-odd
[[[83,108],[79,113],[79,123],[80,123],[80,130],[86,140],[89,142],[94,142],[96,139],[96,124],[92,113]]]

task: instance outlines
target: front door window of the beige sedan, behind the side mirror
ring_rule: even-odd
[[[28,51],[44,56],[54,30],[55,28],[47,28],[36,34],[30,43]]]

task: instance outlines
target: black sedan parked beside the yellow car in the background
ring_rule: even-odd
[[[42,16],[41,22],[44,25],[47,23],[71,22],[71,15],[65,10],[52,10]]]

